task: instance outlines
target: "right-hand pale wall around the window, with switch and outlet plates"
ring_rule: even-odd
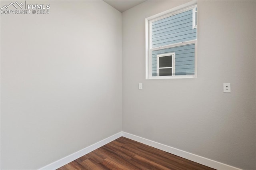
[[[122,13],[123,131],[256,169],[256,2],[198,1],[198,78],[145,80],[145,18],[184,3]]]

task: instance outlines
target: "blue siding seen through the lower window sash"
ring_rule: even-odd
[[[152,76],[156,76],[156,55],[175,53],[175,75],[195,74],[195,44],[152,51]]]

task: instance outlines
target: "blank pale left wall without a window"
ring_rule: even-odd
[[[1,169],[38,169],[122,130],[121,13],[27,3],[51,9],[1,14]]]

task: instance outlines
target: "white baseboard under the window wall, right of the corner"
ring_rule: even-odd
[[[202,156],[198,156],[196,154],[192,154],[192,153],[180,150],[180,149],[176,149],[176,148],[164,145],[164,144],[160,144],[158,142],[154,142],[152,140],[148,140],[148,139],[145,139],[145,138],[142,138],[140,136],[136,136],[136,135],[133,135],[133,134],[130,134],[130,133],[127,133],[127,132],[122,132],[122,136],[124,136],[126,138],[129,138],[129,139],[132,139],[132,140],[135,140],[137,142],[152,146],[154,148],[158,148],[158,149],[163,150],[165,152],[180,156],[182,158],[192,160],[192,161],[197,162],[199,164],[209,166],[209,167],[217,169],[217,170],[241,170],[241,169],[236,168],[234,166],[230,166],[230,165],[227,165],[227,164],[223,164],[221,162],[217,162],[215,160],[204,158]]]

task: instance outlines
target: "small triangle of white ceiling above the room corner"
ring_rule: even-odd
[[[124,12],[146,0],[103,0],[120,12]]]

